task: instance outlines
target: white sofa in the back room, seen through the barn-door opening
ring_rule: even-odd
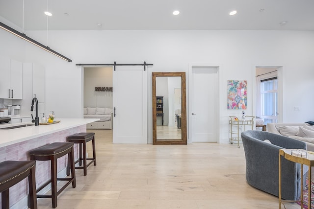
[[[87,129],[112,129],[112,108],[84,108],[84,118],[99,118],[100,120],[86,125]]]

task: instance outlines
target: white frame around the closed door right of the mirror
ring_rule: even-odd
[[[188,82],[188,92],[191,93],[192,92],[192,88],[193,88],[193,82],[192,82],[192,69],[194,67],[204,67],[204,68],[217,68],[217,92],[216,92],[216,95],[217,95],[217,100],[216,100],[216,107],[217,107],[217,110],[216,110],[216,113],[217,113],[217,118],[216,118],[216,127],[217,127],[217,130],[216,130],[216,137],[217,137],[217,143],[220,143],[220,103],[222,103],[222,101],[220,101],[220,96],[219,96],[219,92],[220,92],[220,89],[219,89],[219,84],[221,83],[221,76],[219,76],[220,74],[220,70],[222,69],[222,64],[216,64],[216,63],[191,63],[189,64],[188,66],[188,77],[189,77],[189,82]],[[190,119],[189,119],[189,116],[192,114],[192,109],[191,109],[191,103],[192,103],[192,100],[191,100],[191,97],[189,95],[187,95],[187,99],[188,99],[188,111],[187,111],[187,114],[186,114],[186,119],[187,119],[187,123],[188,123],[188,130],[187,130],[187,136],[188,136],[188,139],[187,139],[187,143],[192,143],[192,126],[190,125]]]

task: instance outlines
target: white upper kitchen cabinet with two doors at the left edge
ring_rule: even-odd
[[[0,98],[23,99],[23,63],[0,56]]]

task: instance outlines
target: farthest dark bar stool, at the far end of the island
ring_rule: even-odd
[[[94,163],[94,165],[96,165],[95,133],[78,133],[78,134],[68,136],[67,139],[70,142],[79,144],[79,158],[75,162],[75,164],[79,163],[79,166],[77,166],[75,168],[84,169],[84,176],[86,176],[87,175],[87,167],[91,163]],[[86,142],[88,142],[90,140],[92,140],[92,144],[93,144],[93,158],[86,158]],[[91,161],[87,164],[87,160],[91,160]],[[82,161],[83,161],[83,166],[81,166]],[[70,170],[68,168],[67,173],[69,173],[69,172],[70,172]]]

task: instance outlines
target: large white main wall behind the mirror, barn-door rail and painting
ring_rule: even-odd
[[[26,34],[43,43],[47,37],[46,31]],[[227,110],[227,80],[248,81],[246,115],[253,114],[255,66],[284,64],[284,122],[314,120],[314,31],[49,31],[49,39],[53,50],[68,56],[73,62],[65,62],[25,44],[3,30],[0,30],[0,54],[19,57],[21,50],[26,50],[25,61],[45,65],[46,78],[53,81],[46,82],[46,110],[53,109],[58,117],[80,117],[82,114],[82,68],[75,64],[146,61],[154,64],[154,71],[186,72],[191,63],[219,63],[218,123],[221,142],[228,141],[228,116],[241,116],[241,111]],[[152,71],[148,72],[150,141]],[[188,80],[186,73],[187,87]],[[299,106],[300,111],[295,112],[294,106]]]

